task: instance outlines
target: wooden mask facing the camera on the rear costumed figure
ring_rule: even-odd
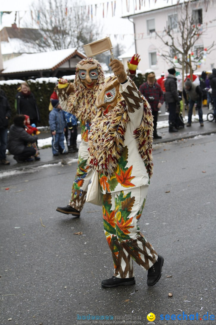
[[[97,63],[85,63],[83,65],[77,63],[77,67],[81,83],[88,89],[93,88],[98,78]]]

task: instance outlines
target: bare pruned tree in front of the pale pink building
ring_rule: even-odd
[[[209,54],[213,49],[214,42],[206,47],[195,50],[198,40],[205,35],[207,25],[202,23],[202,10],[193,11],[193,3],[191,1],[184,1],[182,4],[176,6],[175,20],[170,21],[162,33],[155,32],[156,36],[160,38],[162,43],[166,45],[160,54],[167,63],[179,67],[182,65],[183,71],[192,69],[196,70],[199,61],[203,59],[203,55]],[[160,52],[160,50],[159,50]],[[191,52],[194,52],[193,60],[190,57]],[[176,62],[174,60],[176,57]],[[177,65],[178,63],[178,65]]]

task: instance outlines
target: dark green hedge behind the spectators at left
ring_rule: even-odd
[[[50,104],[50,96],[53,92],[55,84],[52,82],[40,84],[39,82],[31,82],[27,81],[29,87],[31,88],[31,92],[34,94],[39,111],[40,111],[40,123],[38,126],[46,126],[49,125],[49,104]],[[13,124],[13,118],[16,115],[15,110],[15,96],[17,94],[17,85],[1,85],[1,89],[5,92],[6,97],[10,103],[10,107],[12,109],[12,116],[10,119],[10,125]]]

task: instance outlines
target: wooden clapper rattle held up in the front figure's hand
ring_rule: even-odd
[[[114,60],[114,55],[112,53],[113,47],[109,37],[103,38],[96,42],[83,45],[83,47],[85,50],[85,54],[88,58],[106,51],[110,51],[111,58],[112,60]]]

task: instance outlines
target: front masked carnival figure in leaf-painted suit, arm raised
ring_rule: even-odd
[[[134,284],[133,261],[148,270],[147,284],[153,286],[164,259],[138,226],[153,172],[153,117],[123,64],[113,60],[110,66],[115,76],[101,87],[89,133],[89,166],[98,173],[104,232],[114,262],[114,275],[102,286]]]

